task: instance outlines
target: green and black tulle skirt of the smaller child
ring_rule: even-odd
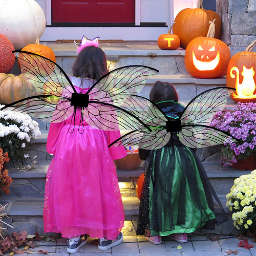
[[[214,229],[225,212],[197,156],[186,147],[152,151],[142,187],[137,234]]]

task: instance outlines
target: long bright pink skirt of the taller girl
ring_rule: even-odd
[[[69,133],[69,127],[61,130],[48,169],[45,232],[115,239],[123,227],[124,212],[106,136],[90,126],[85,126],[83,134],[78,126]]]

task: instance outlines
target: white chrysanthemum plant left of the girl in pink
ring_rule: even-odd
[[[2,106],[0,105],[0,109]],[[28,114],[0,111],[0,147],[8,152],[19,171],[25,172],[36,163],[30,156],[29,144],[31,139],[40,134],[38,123]],[[29,160],[31,164],[28,163]]]

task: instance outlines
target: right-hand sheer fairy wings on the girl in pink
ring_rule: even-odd
[[[89,104],[83,110],[87,123],[101,130],[136,130],[143,120],[131,111],[140,102],[131,95],[144,87],[148,78],[157,74],[146,66],[126,66],[115,69],[100,78],[89,89]],[[140,105],[137,109],[141,108]]]

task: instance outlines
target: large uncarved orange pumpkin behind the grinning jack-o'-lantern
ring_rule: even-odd
[[[209,20],[216,19],[215,38],[221,35],[221,18],[218,13],[203,9],[203,0],[198,0],[197,8],[183,9],[176,18],[173,33],[180,38],[180,47],[186,49],[188,43],[196,37],[206,36]]]

